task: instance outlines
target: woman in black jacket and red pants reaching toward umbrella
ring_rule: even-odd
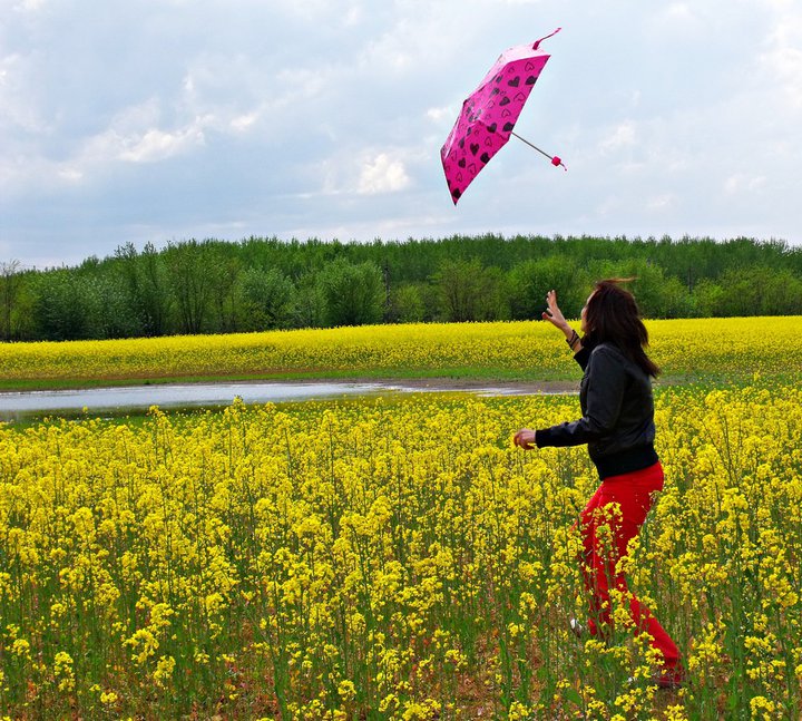
[[[629,540],[646,519],[654,494],[663,489],[663,467],[654,448],[654,400],[652,379],[659,369],[646,355],[648,333],[634,296],[620,286],[623,281],[596,283],[581,310],[579,338],[557,305],[557,294],[546,296],[542,314],[563,333],[585,374],[579,387],[583,417],[551,428],[524,428],[515,444],[525,450],[546,446],[587,444],[602,485],[579,517],[583,536],[583,574],[590,594],[591,634],[606,635],[612,626],[610,587],[624,592],[635,626],[652,637],[663,656],[663,669],[655,682],[662,688],[682,684],[679,652],[657,618],[627,588],[617,562],[627,555]],[[609,504],[617,504],[606,508]],[[618,508],[620,509],[618,511]],[[605,547],[602,526],[613,532],[614,543]],[[575,631],[581,624],[571,622]]]

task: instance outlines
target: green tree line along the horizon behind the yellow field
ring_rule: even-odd
[[[452,236],[133,244],[78,266],[0,263],[0,338],[78,340],[397,322],[578,316],[633,277],[647,318],[802,314],[802,249],[783,241]]]

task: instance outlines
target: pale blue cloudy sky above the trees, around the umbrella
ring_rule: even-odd
[[[551,56],[454,206],[440,147]],[[473,235],[802,245],[799,0],[0,0],[0,263]]]

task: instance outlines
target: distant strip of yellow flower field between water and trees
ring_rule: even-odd
[[[801,316],[649,321],[647,328],[653,355],[671,377],[800,371]],[[542,321],[1,343],[0,388],[187,377],[575,378],[565,353],[559,333]]]

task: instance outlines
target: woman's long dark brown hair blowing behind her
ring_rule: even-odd
[[[614,343],[645,373],[657,378],[659,368],[644,351],[648,331],[635,296],[620,286],[630,280],[612,277],[596,283],[585,311],[586,335],[589,343]]]

